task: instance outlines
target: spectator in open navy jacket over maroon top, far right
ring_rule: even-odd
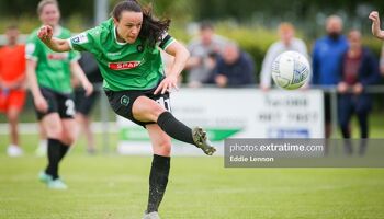
[[[338,83],[340,128],[343,138],[351,138],[350,120],[355,114],[360,124],[360,137],[366,139],[372,100],[364,91],[377,81],[379,65],[372,51],[362,46],[359,31],[351,31],[348,41],[349,49],[342,56]]]

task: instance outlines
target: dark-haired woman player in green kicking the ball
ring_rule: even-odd
[[[126,0],[115,5],[110,20],[67,41],[53,37],[53,28],[47,25],[38,32],[38,37],[55,51],[91,51],[114,112],[147,129],[154,160],[145,218],[159,218],[157,211],[170,169],[170,137],[195,145],[208,155],[216,150],[205,131],[191,130],[168,112],[169,91],[177,89],[177,78],[189,58],[187,48],[167,34],[169,24],[170,20],[154,19],[151,10],[142,8],[136,0]],[[167,76],[159,49],[174,56]]]

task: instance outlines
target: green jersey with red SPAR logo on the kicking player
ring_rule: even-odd
[[[88,50],[98,60],[104,78],[103,87],[111,91],[149,90],[163,77],[160,50],[174,38],[165,34],[157,46],[120,43],[113,19],[68,39],[75,50]]]

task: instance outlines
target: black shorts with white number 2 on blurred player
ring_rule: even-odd
[[[38,120],[50,113],[58,113],[60,118],[74,118],[75,102],[71,93],[59,93],[47,88],[41,88],[39,90],[48,103],[48,111],[42,113],[35,107]]]

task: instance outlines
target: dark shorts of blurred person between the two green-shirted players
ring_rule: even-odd
[[[77,90],[75,92],[76,113],[81,113],[82,115],[88,116],[99,95],[100,92],[95,90],[89,96],[86,96],[86,91],[83,89]]]

